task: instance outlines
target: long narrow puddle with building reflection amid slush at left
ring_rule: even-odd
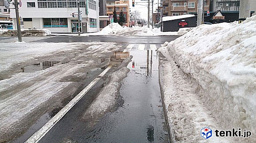
[[[52,67],[54,64],[58,64],[60,61],[43,61],[37,64],[32,64],[25,66],[22,68],[23,72],[36,72],[36,71],[41,71],[46,68]]]

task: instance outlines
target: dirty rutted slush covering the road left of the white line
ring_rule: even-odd
[[[42,114],[61,107],[62,101],[72,96],[90,76],[92,68],[107,65],[116,50],[119,47],[113,43],[8,43],[1,46],[0,73],[15,68],[15,63],[35,64],[37,59],[66,57],[51,68],[20,72],[0,80],[0,142],[10,141]],[[102,58],[105,61],[102,62]]]

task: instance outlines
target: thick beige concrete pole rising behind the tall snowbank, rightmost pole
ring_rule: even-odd
[[[239,23],[242,23],[246,18],[249,18],[250,16],[250,0],[240,0]]]

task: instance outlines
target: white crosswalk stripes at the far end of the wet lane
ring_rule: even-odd
[[[125,49],[124,52],[133,51],[133,50],[157,50],[161,47],[160,44],[129,44]]]

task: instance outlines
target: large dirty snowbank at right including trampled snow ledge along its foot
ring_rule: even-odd
[[[256,142],[255,39],[256,16],[253,16],[242,24],[200,25],[162,49],[168,61],[176,62],[180,67],[177,70],[184,72],[183,75],[168,73],[166,70],[172,70],[166,68],[162,73],[174,140],[204,142],[199,136],[200,129],[209,126],[214,130],[242,128],[252,132],[248,139],[225,138],[227,140],[222,142]],[[181,80],[177,82],[191,78],[189,85],[195,86],[187,88],[183,83],[173,82],[172,78]],[[177,90],[166,87],[177,87]],[[190,125],[184,126],[182,123],[187,120]],[[212,137],[207,141],[215,139],[224,138]]]

